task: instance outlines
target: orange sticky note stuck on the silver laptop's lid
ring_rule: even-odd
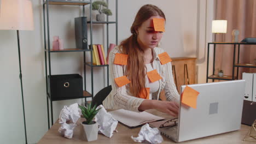
[[[182,93],[182,103],[196,109],[196,101],[198,95],[199,92],[189,86],[186,86]]]

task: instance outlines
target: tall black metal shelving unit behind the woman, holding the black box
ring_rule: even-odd
[[[94,97],[94,68],[95,67],[107,67],[107,85],[109,85],[109,68],[108,64],[107,65],[93,65],[92,64],[92,50],[91,49],[64,49],[64,50],[57,50],[54,51],[50,49],[50,27],[49,27],[49,5],[79,5],[83,7],[83,16],[85,16],[85,5],[90,5],[90,17],[92,19],[92,0],[90,1],[65,1],[65,0],[43,0],[43,19],[44,19],[44,56],[45,56],[45,80],[46,80],[46,103],[47,103],[47,112],[48,112],[48,129],[50,128],[50,117],[49,117],[49,101],[50,101],[50,112],[51,112],[51,125],[53,125],[53,101],[59,101],[59,100],[69,100],[69,99],[85,99],[85,104],[86,104],[86,98],[92,98]],[[108,3],[108,0],[107,0]],[[79,7],[80,10],[80,7]],[[90,44],[93,44],[93,39],[92,39],[92,25],[107,25],[107,46],[109,45],[109,24],[115,24],[115,43],[118,44],[118,0],[115,0],[115,21],[108,21],[108,16],[107,16],[107,21],[103,22],[98,22],[98,21],[88,21],[88,25],[90,26]],[[74,18],[74,17],[72,17]],[[89,36],[89,35],[88,35]],[[108,51],[108,48],[106,52]],[[56,53],[56,52],[83,52],[83,62],[84,62],[84,92],[83,92],[83,97],[72,97],[72,98],[58,98],[58,99],[53,99],[51,97],[50,93],[50,79],[48,79],[48,76],[51,76],[51,53]],[[85,61],[85,52],[90,52],[91,55],[91,61],[86,62]],[[91,68],[91,93],[86,91],[86,76],[85,76],[85,71],[86,71],[86,66]],[[49,73],[48,73],[49,69]]]

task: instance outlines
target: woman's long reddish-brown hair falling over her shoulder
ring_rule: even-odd
[[[144,65],[144,51],[137,42],[137,29],[142,23],[152,16],[161,16],[165,19],[165,14],[155,5],[143,5],[135,17],[131,26],[132,35],[121,41],[120,47],[122,53],[128,55],[125,75],[131,80],[130,92],[134,97],[139,97],[139,92],[146,87],[146,69]]]

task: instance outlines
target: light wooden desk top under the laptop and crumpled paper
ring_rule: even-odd
[[[154,115],[166,117],[166,118],[171,118],[171,116],[166,116],[165,113],[157,112],[155,110],[148,110],[147,112],[153,113]],[[59,124],[59,122],[55,122],[53,127],[51,127],[50,130],[46,132],[46,134],[42,137],[41,140],[39,140],[38,143],[47,143],[47,144],[49,143],[54,143],[54,144],[57,144],[57,143],[72,143],[72,144],[75,144],[75,143],[136,143],[131,139],[131,136],[133,135],[137,137],[139,130],[141,129],[141,127],[135,128],[135,129],[129,129],[124,125],[118,123],[118,127],[117,127],[118,133],[114,132],[111,138],[108,138],[102,134],[98,134],[98,140],[88,142],[86,141],[86,138],[85,138],[83,126],[80,124],[80,122],[82,121],[84,121],[84,118],[80,118],[78,120],[77,122],[78,125],[77,127],[75,127],[74,135],[72,139],[67,139],[65,137],[62,137],[58,132],[58,129],[60,128],[61,125]],[[249,126],[242,124],[241,129],[237,131],[208,136],[201,139],[190,140],[190,141],[181,142],[181,143],[190,143],[190,144],[193,144],[193,143],[196,143],[196,144],[254,143],[255,144],[255,142],[242,141],[243,137],[246,135],[249,128],[250,128]],[[162,136],[162,137],[164,139],[162,143],[176,143],[165,136]]]

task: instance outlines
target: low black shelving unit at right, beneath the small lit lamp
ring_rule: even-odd
[[[213,71],[212,75],[209,76],[209,55],[210,55],[210,46],[213,45]],[[216,45],[233,45],[233,64],[232,64],[232,75],[224,75],[223,77],[219,77],[218,75],[214,75],[215,72],[215,58],[216,58]],[[207,46],[207,71],[206,71],[206,82],[208,82],[208,79],[214,80],[237,80],[238,79],[238,70],[240,67],[244,68],[256,68],[256,65],[254,64],[243,64],[240,63],[240,46],[241,45],[256,45],[256,43],[208,43]],[[218,49],[222,49],[221,47],[218,47]],[[237,56],[236,56],[236,49]],[[235,62],[237,57],[237,62]],[[235,75],[235,68],[236,68],[236,75]]]

